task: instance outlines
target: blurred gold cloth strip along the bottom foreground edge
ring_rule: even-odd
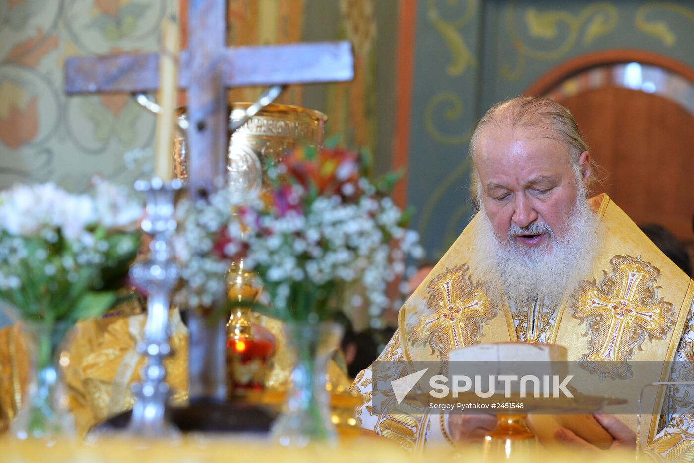
[[[140,441],[136,439],[100,439],[93,445],[57,442],[51,448],[41,442],[0,440],[0,455],[11,463],[226,463],[237,462],[283,463],[439,463],[491,462],[484,460],[480,446],[452,449],[430,448],[421,455],[409,453],[388,439],[363,436],[348,445],[337,447],[308,446],[286,448],[253,437],[224,437],[182,439],[171,441]],[[518,463],[552,462],[585,463],[634,462],[634,453],[587,453],[585,451],[543,451],[514,453],[506,461]],[[640,461],[650,462],[646,455]]]

